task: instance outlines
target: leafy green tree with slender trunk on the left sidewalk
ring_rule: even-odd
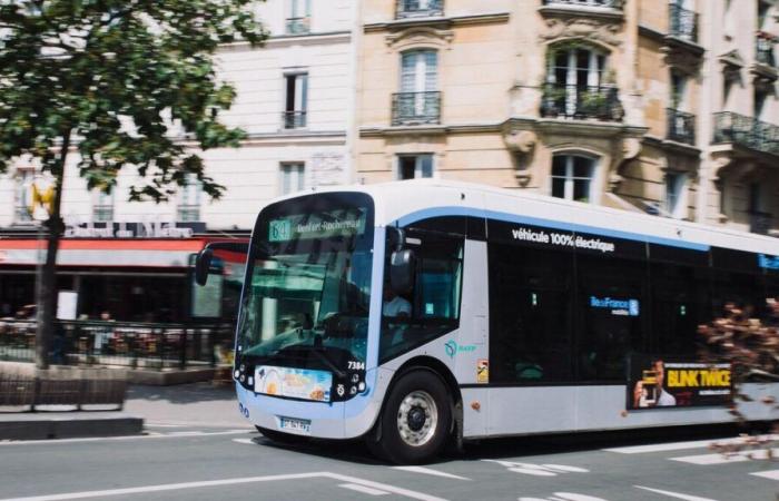
[[[90,189],[136,168],[130,200],[166,200],[190,176],[218,198],[197,150],[238,146],[220,124],[235,90],[217,81],[221,43],[267,38],[253,0],[0,0],[0,174],[31,158],[55,183],[38,296],[36,364],[48,367],[69,156]],[[178,134],[176,132],[178,131]]]

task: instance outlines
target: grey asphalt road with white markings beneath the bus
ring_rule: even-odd
[[[358,443],[150,422],[144,436],[0,442],[0,500],[777,500],[779,462],[713,453],[712,432],[663,434],[497,440],[395,468]]]

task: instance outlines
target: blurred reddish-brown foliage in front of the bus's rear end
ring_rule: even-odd
[[[745,383],[752,381],[779,382],[779,298],[767,302],[765,320],[752,317],[751,308],[739,308],[727,304],[726,315],[710,325],[699,327],[706,341],[703,358],[709,363],[731,365],[732,401],[730,413],[746,424],[747,416],[741,404],[753,401]],[[761,403],[771,411],[779,410],[776,400],[763,396]],[[773,422],[773,433],[779,433],[779,422]],[[777,442],[771,435],[742,435],[741,441],[714,443],[713,449],[723,453],[752,451],[753,458],[772,459],[772,446]]]

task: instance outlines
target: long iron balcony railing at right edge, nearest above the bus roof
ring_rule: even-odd
[[[779,126],[732,111],[721,111],[714,114],[713,143],[732,143],[756,151],[779,155]]]

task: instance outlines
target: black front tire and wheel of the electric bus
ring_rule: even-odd
[[[402,375],[386,400],[379,425],[381,439],[374,445],[384,459],[398,464],[430,461],[441,452],[452,429],[446,384],[427,370]]]

